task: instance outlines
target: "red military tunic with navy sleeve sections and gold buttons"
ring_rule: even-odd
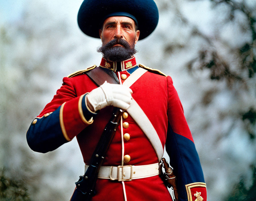
[[[122,76],[123,74],[125,76]],[[103,166],[137,166],[158,163],[166,144],[171,165],[174,170],[176,168],[178,188],[180,186],[179,200],[194,201],[197,198],[194,195],[197,189],[200,189],[201,196],[206,200],[201,166],[171,77],[166,77],[151,69],[147,71],[143,66],[131,75],[127,71],[122,71],[117,75],[121,84],[132,89],[133,102],[121,119],[106,153]],[[77,137],[85,164],[88,164],[113,110],[112,106],[107,106],[98,114],[94,113],[93,120],[85,117],[82,100],[86,93],[95,88],[97,85],[82,72],[65,77],[63,86],[57,91],[57,95],[35,118],[35,120],[41,120],[58,113],[61,133],[67,141]],[[51,112],[53,114],[50,114]],[[36,125],[35,120],[31,126]],[[50,129],[46,127],[43,130],[48,132]],[[27,138],[39,135],[36,131],[38,129],[31,127]],[[167,135],[170,136],[169,139]],[[60,142],[60,145],[63,143]],[[53,147],[55,148],[55,145]],[[47,151],[49,150],[41,152]],[[191,164],[193,168],[190,167]],[[199,176],[194,176],[196,174]],[[172,200],[158,175],[122,182],[99,178],[96,192],[92,200]]]

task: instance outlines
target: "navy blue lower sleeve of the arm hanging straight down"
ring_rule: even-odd
[[[173,132],[168,123],[165,148],[177,179],[178,200],[187,201],[185,185],[205,182],[195,144],[188,138]]]

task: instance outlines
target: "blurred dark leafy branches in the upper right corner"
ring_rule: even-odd
[[[210,79],[212,80],[225,80],[229,86],[235,82],[244,83],[245,80],[241,77],[241,71],[246,70],[246,77],[251,78],[256,72],[256,30],[255,22],[256,19],[253,17],[255,15],[255,10],[247,6],[244,2],[238,3],[237,1],[228,1],[228,0],[211,0],[214,6],[219,6],[226,4],[229,7],[229,14],[224,23],[229,23],[230,21],[235,20],[235,11],[240,11],[245,16],[246,22],[243,22],[245,27],[243,31],[250,32],[251,42],[245,43],[242,46],[238,47],[229,47],[230,54],[237,55],[236,70],[234,71],[232,65],[227,60],[218,53],[215,44],[212,42],[212,39],[204,35],[197,27],[194,27],[193,34],[198,35],[205,39],[208,43],[207,49],[201,49],[199,51],[199,57],[192,59],[188,63],[188,69],[191,71],[193,68],[204,69],[208,68],[211,70]],[[246,27],[248,25],[248,27]],[[225,26],[225,24],[224,24]],[[225,41],[219,41],[225,43]],[[199,65],[198,65],[199,64]],[[196,66],[195,66],[196,65]]]

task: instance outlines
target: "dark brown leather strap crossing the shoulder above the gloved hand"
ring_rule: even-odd
[[[96,67],[91,71],[86,72],[86,74],[98,85],[102,85],[105,81],[110,84],[119,84],[119,80],[116,74],[109,69],[102,69],[101,67]]]

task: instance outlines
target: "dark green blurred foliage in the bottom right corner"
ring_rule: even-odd
[[[225,199],[225,201],[255,201],[256,200],[256,166],[252,167],[252,185],[249,188],[245,186],[245,179],[241,178],[237,183],[231,194]]]

